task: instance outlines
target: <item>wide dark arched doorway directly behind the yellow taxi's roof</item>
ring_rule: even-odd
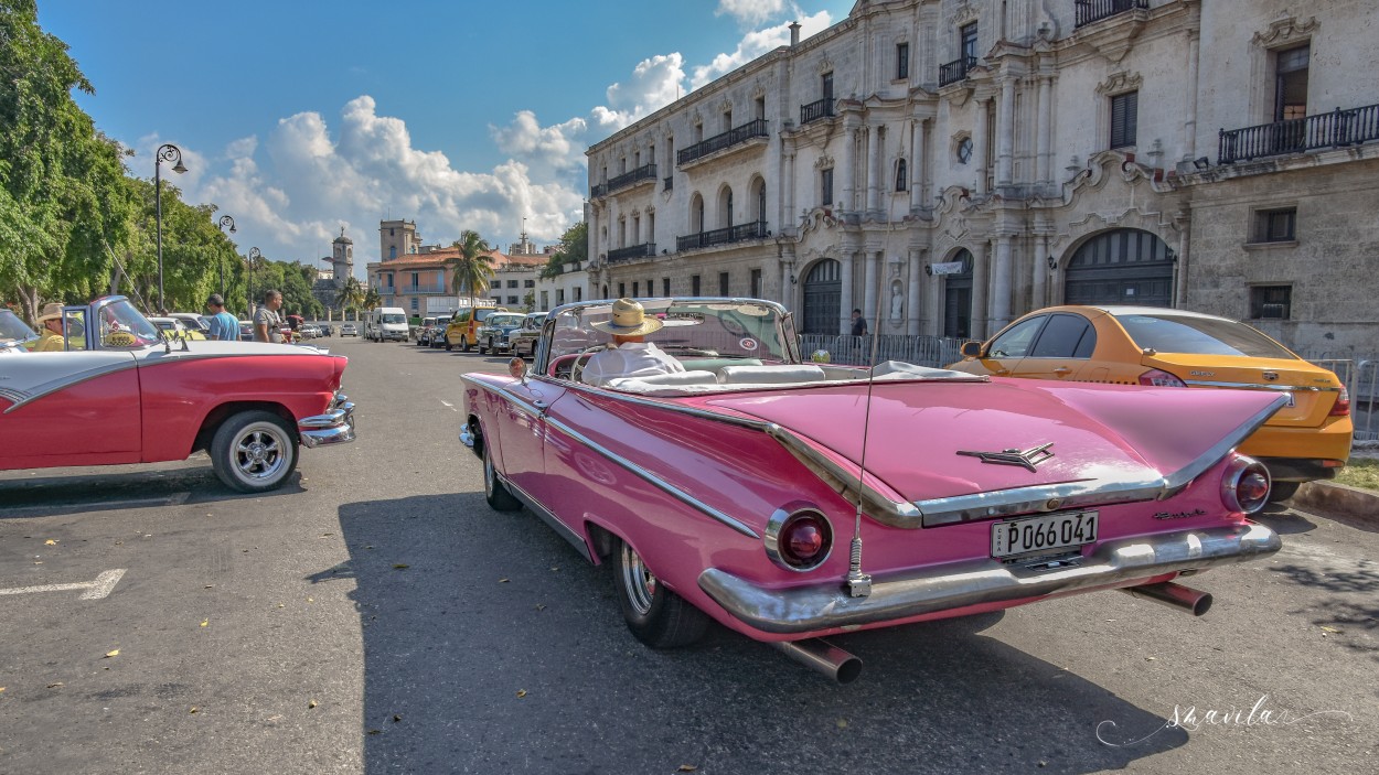
[[[1174,251],[1140,229],[1102,232],[1067,262],[1063,302],[1174,306]]]

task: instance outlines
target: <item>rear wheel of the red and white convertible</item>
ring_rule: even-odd
[[[263,411],[240,412],[211,439],[211,466],[230,490],[277,490],[296,469],[296,434],[283,418]]]

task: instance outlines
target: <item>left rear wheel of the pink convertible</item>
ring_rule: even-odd
[[[703,636],[709,616],[670,592],[621,538],[614,546],[614,586],[627,629],[651,648],[678,648]]]

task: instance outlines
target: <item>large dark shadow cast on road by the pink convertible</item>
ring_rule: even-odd
[[[370,772],[1095,772],[1187,742],[982,634],[1000,615],[836,638],[867,662],[840,687],[723,627],[644,647],[604,568],[481,494],[339,523],[349,560],[309,579],[353,585]]]

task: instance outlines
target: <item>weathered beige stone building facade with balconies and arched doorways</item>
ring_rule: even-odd
[[[589,291],[985,338],[1175,306],[1379,334],[1373,3],[894,0],[589,149]]]

